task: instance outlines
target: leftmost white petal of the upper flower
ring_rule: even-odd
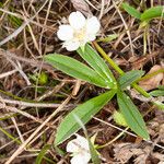
[[[69,40],[73,38],[73,28],[70,25],[60,25],[57,36],[61,40]]]

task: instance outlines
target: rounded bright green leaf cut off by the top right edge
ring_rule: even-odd
[[[153,7],[153,8],[145,10],[141,14],[141,21],[148,22],[152,19],[161,17],[161,16],[164,17],[164,5]]]

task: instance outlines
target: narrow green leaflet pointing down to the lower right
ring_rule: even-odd
[[[150,137],[147,131],[145,122],[130,97],[126,95],[126,93],[118,91],[117,102],[119,109],[124,115],[129,128],[138,136],[142,137],[145,140],[149,140]]]

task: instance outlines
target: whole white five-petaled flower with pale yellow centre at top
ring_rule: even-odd
[[[63,47],[69,51],[77,50],[87,42],[94,40],[101,27],[96,16],[85,19],[79,11],[69,15],[69,23],[60,25],[57,32],[58,38],[63,40]]]

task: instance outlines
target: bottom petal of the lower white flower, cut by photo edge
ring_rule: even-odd
[[[71,159],[71,164],[87,164],[91,159],[91,155],[87,154],[78,154]]]

